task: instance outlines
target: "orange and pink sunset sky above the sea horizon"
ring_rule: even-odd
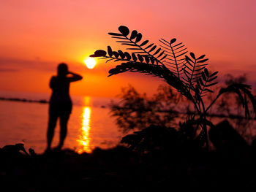
[[[128,84],[154,93],[156,77],[107,77],[113,64],[83,64],[94,50],[121,48],[108,35],[121,25],[155,43],[176,37],[196,55],[206,54],[210,69],[246,73],[256,84],[255,9],[255,0],[1,0],[0,91],[50,93],[51,75],[66,62],[84,77],[71,86],[74,95],[116,96]]]

